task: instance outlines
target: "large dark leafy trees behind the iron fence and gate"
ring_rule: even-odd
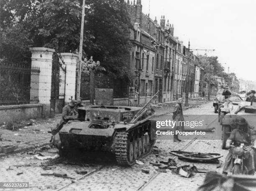
[[[79,47],[82,0],[1,0],[3,56],[30,61],[28,48],[74,52]],[[121,0],[87,0],[84,46],[114,78],[129,78],[123,59],[130,51],[131,22]],[[14,54],[14,57],[12,56]]]

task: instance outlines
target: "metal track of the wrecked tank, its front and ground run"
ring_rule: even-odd
[[[137,159],[133,159],[133,161],[128,161],[128,132],[125,130],[118,131],[115,136],[115,158],[117,163],[121,166],[132,166],[136,163],[136,160],[143,158],[150,153],[155,141],[156,140],[150,142],[149,149],[146,151],[146,153],[141,154],[141,156],[139,156]]]

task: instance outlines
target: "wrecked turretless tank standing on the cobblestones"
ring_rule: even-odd
[[[70,150],[108,152],[119,165],[131,166],[138,158],[146,156],[155,143],[156,121],[149,119],[154,110],[147,105],[130,107],[103,103],[79,108],[77,119],[61,128],[59,153],[65,156]]]

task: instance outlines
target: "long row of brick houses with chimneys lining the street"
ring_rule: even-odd
[[[130,70],[132,84],[138,93],[136,104],[146,103],[156,92],[153,103],[173,101],[183,97],[187,88],[195,92],[195,55],[182,41],[174,38],[174,27],[161,16],[160,24],[142,13],[141,0],[126,3],[131,18]],[[189,62],[188,62],[189,59]],[[200,74],[199,74],[200,76]],[[198,84],[198,83],[196,83]],[[197,86],[197,85],[196,85]]]

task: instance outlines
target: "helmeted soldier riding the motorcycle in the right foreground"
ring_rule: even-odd
[[[253,146],[253,148],[256,148],[255,133],[253,130],[251,130],[251,128],[249,128],[249,125],[248,123],[246,123],[246,120],[241,116],[237,116],[237,118],[235,119],[234,125],[237,128],[231,131],[230,136],[226,141],[226,148],[230,148],[232,143],[234,146],[240,146],[241,143],[244,143],[245,146]],[[248,169],[248,174],[251,174],[251,175],[253,175],[255,171],[254,158],[255,158],[255,152],[253,149],[251,149],[248,159],[244,160],[244,164]],[[227,174],[228,172],[231,172],[232,168],[233,168],[233,156],[232,156],[232,150],[230,149],[225,159],[223,174]]]

